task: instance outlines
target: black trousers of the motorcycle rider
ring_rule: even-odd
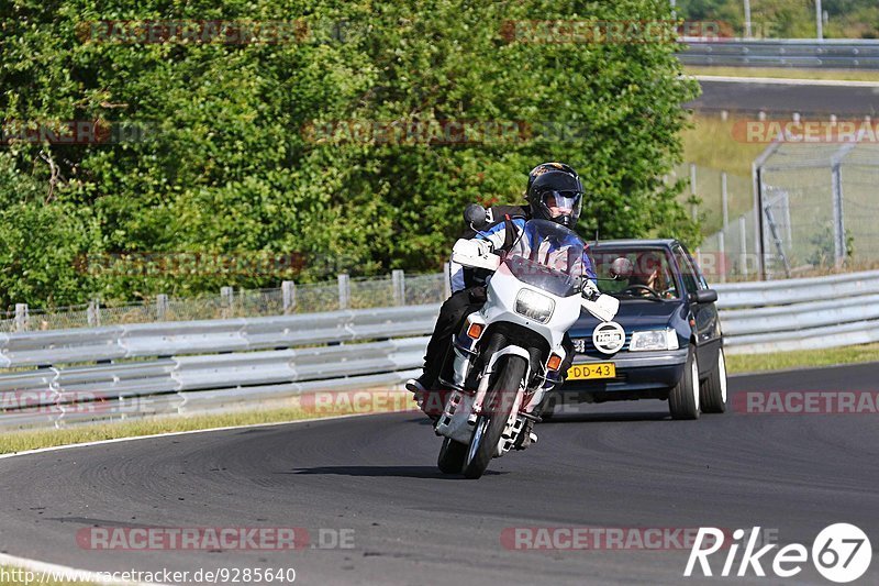
[[[446,356],[452,336],[464,325],[464,319],[478,311],[486,303],[486,288],[482,286],[461,289],[452,294],[439,308],[439,317],[436,318],[431,341],[427,343],[426,355],[424,356],[424,380],[430,385],[435,385],[443,369],[443,360]],[[561,340],[565,349],[565,360],[561,362],[561,376],[568,373],[574,362],[574,342],[570,336],[565,334]]]

